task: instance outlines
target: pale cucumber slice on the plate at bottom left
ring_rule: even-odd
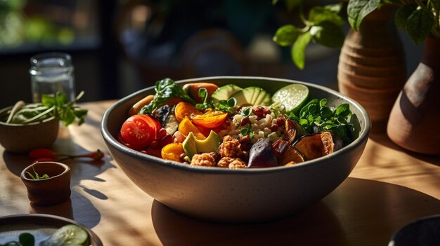
[[[41,243],[43,246],[58,246],[58,245],[88,245],[89,234],[84,228],[75,226],[73,224],[65,225],[50,238]]]

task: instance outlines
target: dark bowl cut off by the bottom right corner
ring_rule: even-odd
[[[388,246],[440,245],[440,214],[417,219],[400,228]]]

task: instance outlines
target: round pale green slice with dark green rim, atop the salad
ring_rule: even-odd
[[[309,98],[309,88],[299,83],[292,83],[277,90],[272,95],[273,102],[283,103],[286,111],[297,112],[306,103]]]

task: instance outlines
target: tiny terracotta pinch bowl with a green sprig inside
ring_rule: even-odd
[[[35,176],[35,172],[46,179],[33,179],[29,173]],[[34,163],[21,172],[21,180],[27,188],[27,197],[35,205],[56,205],[70,198],[70,167],[63,163],[38,162]]]

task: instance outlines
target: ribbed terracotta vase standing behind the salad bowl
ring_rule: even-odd
[[[367,15],[358,32],[349,31],[339,55],[339,92],[365,108],[372,132],[385,132],[389,112],[406,81],[405,53],[394,11],[394,6],[384,5]]]

